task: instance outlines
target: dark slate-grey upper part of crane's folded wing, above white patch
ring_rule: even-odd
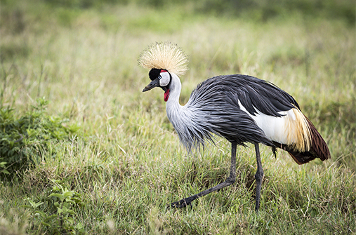
[[[299,109],[296,100],[274,84],[240,74],[207,79],[197,86],[192,95],[204,97],[204,100],[225,99],[225,102],[237,107],[239,107],[238,102],[241,102],[251,115],[257,113],[256,109],[269,116],[282,116],[279,112],[288,111],[294,107]],[[190,100],[202,99],[195,97]]]

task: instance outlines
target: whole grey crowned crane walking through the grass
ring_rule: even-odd
[[[215,187],[170,203],[169,208],[192,206],[195,199],[233,184],[237,145],[251,143],[255,148],[256,213],[263,180],[259,144],[271,147],[275,156],[277,149],[288,152],[299,165],[330,159],[327,143],[298,102],[269,81],[244,74],[213,76],[199,83],[187,103],[180,105],[179,76],[187,72],[187,62],[187,55],[176,43],[152,43],[138,57],[138,65],[150,69],[151,81],[143,92],[155,87],[164,90],[166,114],[187,152],[214,143],[217,136],[228,140],[230,175]]]

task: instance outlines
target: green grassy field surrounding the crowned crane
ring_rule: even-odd
[[[0,130],[9,146],[24,142],[16,151],[29,149],[31,158],[14,168],[0,156],[0,234],[356,233],[355,22],[282,10],[233,17],[190,1],[71,2],[1,2],[1,120],[10,120],[11,107],[14,120],[38,114],[39,123],[60,126],[52,135],[30,125],[23,140]],[[235,184],[192,208],[166,210],[225,180],[230,145],[217,138],[187,154],[162,91],[141,92],[150,79],[137,59],[155,41],[178,43],[189,55],[181,104],[214,75],[271,81],[298,101],[331,159],[298,166],[262,147],[256,214],[254,149],[238,147]]]

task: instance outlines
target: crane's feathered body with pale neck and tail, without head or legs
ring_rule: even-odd
[[[289,150],[298,164],[328,158],[329,152],[313,149],[313,137],[320,136],[310,134],[315,127],[296,100],[272,83],[241,74],[214,76],[200,83],[181,106],[180,80],[171,76],[166,112],[187,149],[204,146],[213,133],[238,145],[257,142]]]

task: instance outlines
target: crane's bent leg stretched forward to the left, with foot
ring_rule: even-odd
[[[231,166],[230,166],[230,175],[229,175],[228,179],[226,179],[221,184],[216,185],[215,187],[212,187],[210,189],[206,189],[203,192],[199,192],[199,194],[195,194],[193,196],[187,197],[187,198],[182,199],[180,201],[173,202],[173,203],[171,203],[171,205],[169,205],[169,207],[183,208],[183,207],[185,207],[187,205],[190,205],[190,203],[192,201],[194,201],[195,199],[197,199],[197,198],[199,198],[201,196],[205,196],[206,194],[210,194],[211,192],[214,192],[216,190],[219,190],[219,189],[222,189],[224,187],[227,187],[230,184],[233,184],[235,182],[236,146],[237,146],[236,142],[232,142],[231,143]]]

